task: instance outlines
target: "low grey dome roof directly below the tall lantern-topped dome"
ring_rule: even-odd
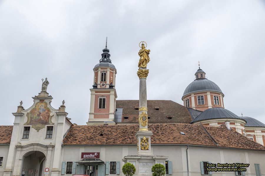
[[[232,113],[231,111],[225,109],[225,108],[209,108],[205,111],[203,111],[200,115],[198,115],[193,121],[198,122],[201,120],[207,120],[207,119],[220,119],[220,118],[235,118],[235,119],[241,119],[236,114]],[[246,120],[245,120],[246,121]]]

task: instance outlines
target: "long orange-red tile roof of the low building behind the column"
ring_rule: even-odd
[[[204,127],[218,147],[264,150],[265,147],[225,127]],[[74,125],[63,145],[136,145],[139,125]],[[217,147],[201,125],[187,123],[148,124],[151,144],[188,144]],[[185,133],[181,135],[180,132]],[[102,134],[102,135],[100,135]]]

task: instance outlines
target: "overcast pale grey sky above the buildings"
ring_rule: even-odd
[[[85,125],[93,68],[105,38],[118,100],[139,99],[138,43],[150,52],[149,100],[181,98],[198,69],[223,91],[224,106],[265,123],[264,1],[0,1],[1,125],[12,125],[48,78],[58,108]]]

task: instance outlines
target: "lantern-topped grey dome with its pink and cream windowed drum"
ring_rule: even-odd
[[[208,108],[224,107],[222,90],[205,75],[199,64],[195,80],[187,86],[182,96],[183,104],[187,108],[204,111]]]

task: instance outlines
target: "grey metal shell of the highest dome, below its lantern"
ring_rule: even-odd
[[[187,86],[187,88],[183,93],[183,97],[185,95],[188,95],[189,93],[199,92],[199,91],[215,91],[223,94],[219,86],[217,86],[217,84],[214,83],[213,81],[210,81],[206,78],[198,78]]]

